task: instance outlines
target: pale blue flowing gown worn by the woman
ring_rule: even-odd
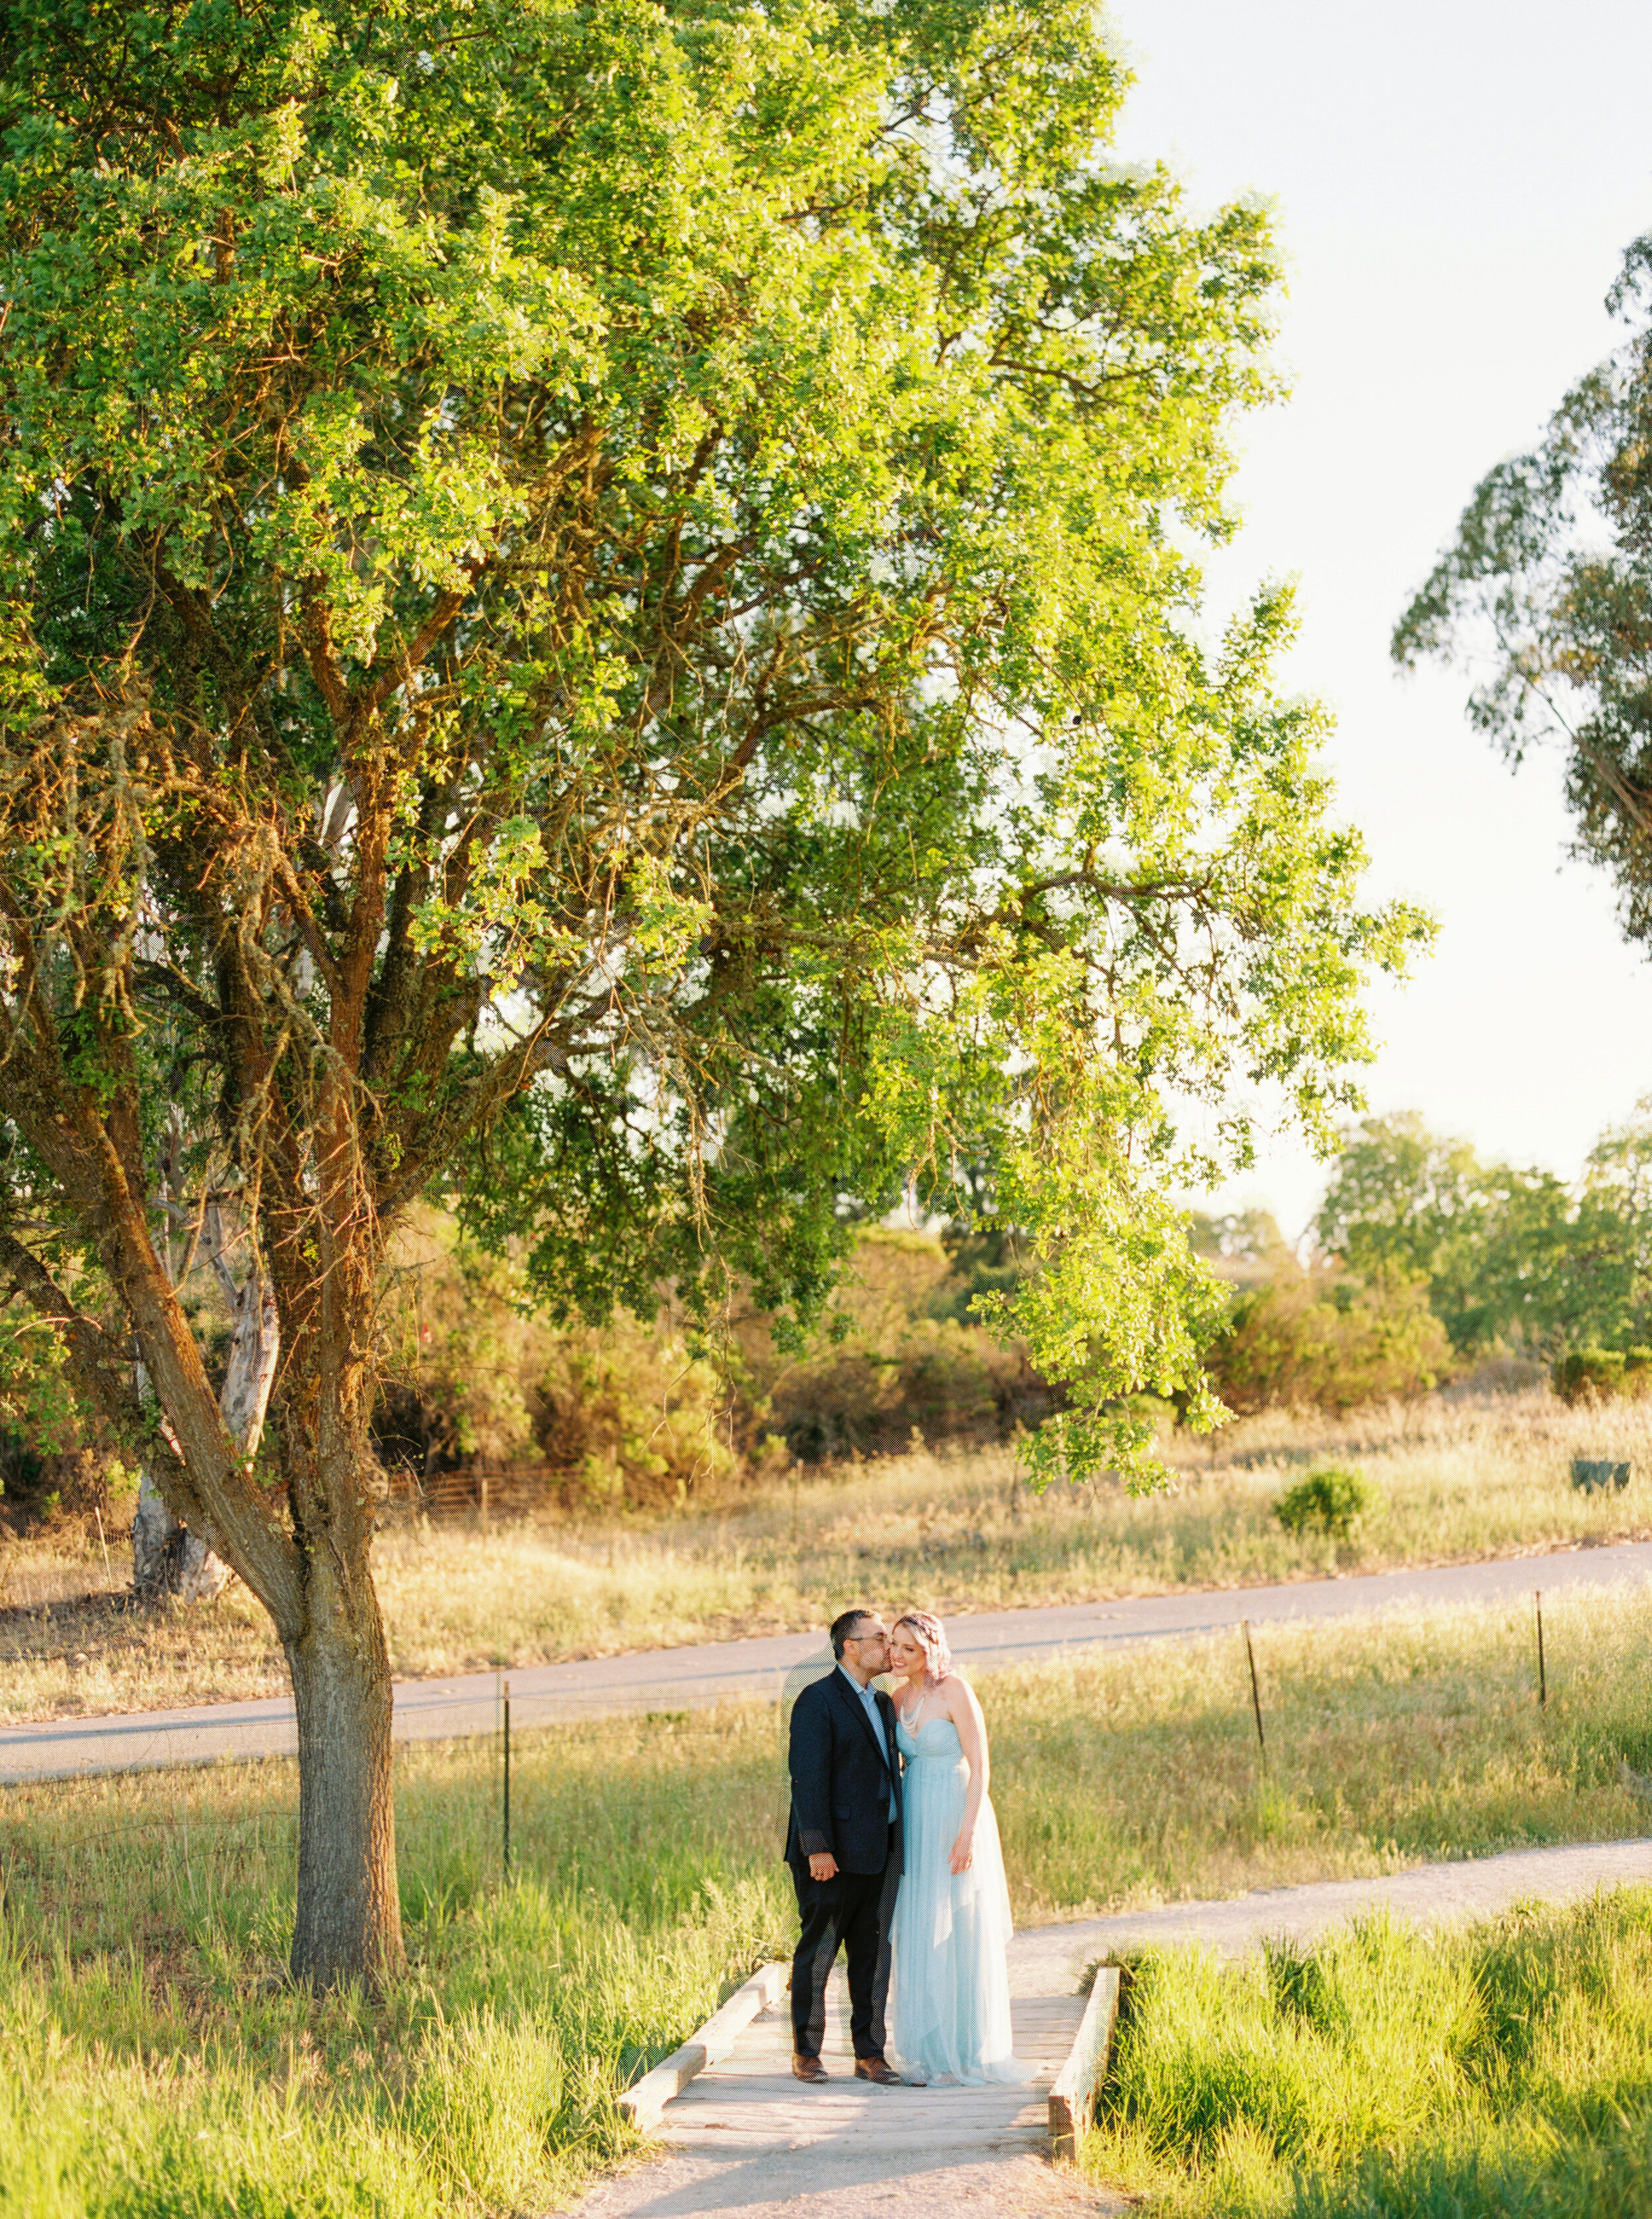
[[[906,1857],[888,1990],[895,2061],[964,2088],[1030,2079],[1032,2068],[1010,2046],[1010,1891],[993,1804],[981,1802],[968,1873],[948,1871],[970,1784],[957,1726],[926,1718],[908,1733],[897,1720],[895,1737],[906,1757]]]

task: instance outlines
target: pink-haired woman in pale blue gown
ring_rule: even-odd
[[[1030,2079],[1010,2050],[1010,1891],[986,1795],[981,1706],[928,1611],[895,1620],[888,1669],[906,1757],[890,1979],[899,2068],[959,2086]]]

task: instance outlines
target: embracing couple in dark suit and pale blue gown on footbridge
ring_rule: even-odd
[[[826,2079],[826,1979],[842,1946],[857,2079],[1028,2079],[1010,2053],[1010,1895],[975,1691],[928,1611],[888,1633],[875,1611],[844,1611],[833,1655],[790,1718],[793,2073]],[[873,1686],[882,1673],[893,1700]]]

